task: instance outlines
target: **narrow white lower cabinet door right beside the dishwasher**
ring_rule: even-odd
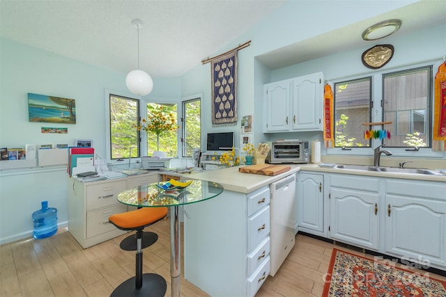
[[[323,233],[323,175],[299,173],[297,193],[298,229]]]

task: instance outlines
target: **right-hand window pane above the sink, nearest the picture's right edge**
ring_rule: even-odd
[[[391,147],[430,147],[431,67],[383,75],[384,121]]]

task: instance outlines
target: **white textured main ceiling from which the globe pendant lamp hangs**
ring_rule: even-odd
[[[127,73],[176,77],[282,6],[283,0],[0,0],[0,35]],[[224,24],[224,26],[223,26]],[[247,40],[244,40],[245,42]]]

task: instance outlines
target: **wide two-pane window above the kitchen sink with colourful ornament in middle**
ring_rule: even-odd
[[[374,146],[430,147],[431,73],[420,67],[334,83],[335,147],[370,147],[374,139]]]

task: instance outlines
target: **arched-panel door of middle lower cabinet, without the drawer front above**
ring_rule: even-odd
[[[378,193],[330,188],[330,235],[378,250]]]

